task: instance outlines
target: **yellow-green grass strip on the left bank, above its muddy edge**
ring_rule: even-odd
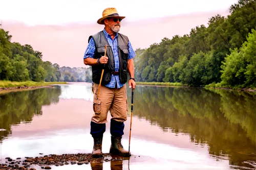
[[[48,86],[52,84],[67,84],[67,82],[12,82],[12,81],[0,81],[0,88],[12,88],[12,87],[36,87],[36,86]]]

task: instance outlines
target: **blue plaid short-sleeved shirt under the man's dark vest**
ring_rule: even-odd
[[[103,29],[104,35],[106,39],[108,40],[114,54],[114,60],[115,60],[115,71],[119,70],[119,57],[118,57],[118,45],[117,45],[117,35],[115,36],[114,40],[111,38],[110,34]],[[132,59],[136,56],[133,47],[131,45],[131,42],[129,41],[129,54],[128,54],[128,59]],[[86,59],[88,57],[93,58],[94,57],[94,52],[95,52],[95,43],[93,38],[90,39],[89,44],[87,46],[86,52],[84,53],[83,59]],[[120,83],[120,79],[118,75],[112,75],[111,81],[109,84],[106,84],[106,87],[110,88],[115,88],[115,85],[117,83],[117,88],[121,88],[124,84]]]

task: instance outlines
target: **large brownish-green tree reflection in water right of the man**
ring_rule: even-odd
[[[245,166],[243,161],[256,159],[255,100],[249,92],[137,86],[133,114],[163,131],[187,133],[191,142],[207,143],[209,154],[228,155],[230,164]]]

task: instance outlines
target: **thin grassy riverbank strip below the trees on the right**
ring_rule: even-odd
[[[168,86],[168,87],[198,87],[198,86],[188,86],[181,83],[169,83],[169,82],[136,82],[139,86]],[[201,88],[213,88],[213,89],[225,89],[225,90],[237,90],[237,91],[256,91],[253,87],[229,87],[220,84],[209,84],[206,86],[200,86]]]

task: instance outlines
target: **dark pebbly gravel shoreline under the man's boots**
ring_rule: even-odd
[[[43,155],[43,153],[39,153],[39,155]],[[140,156],[139,156],[140,157]],[[12,159],[10,157],[6,157],[5,160],[2,159],[2,162],[5,163],[0,164],[1,170],[10,170],[10,169],[22,169],[22,170],[38,170],[35,167],[31,167],[32,165],[40,166],[40,169],[52,169],[51,166],[63,166],[63,165],[82,165],[89,164],[90,162],[108,162],[115,160],[128,160],[126,157],[112,157],[111,154],[103,154],[102,158],[93,158],[92,154],[62,154],[62,155],[44,155],[37,157],[25,157]]]

